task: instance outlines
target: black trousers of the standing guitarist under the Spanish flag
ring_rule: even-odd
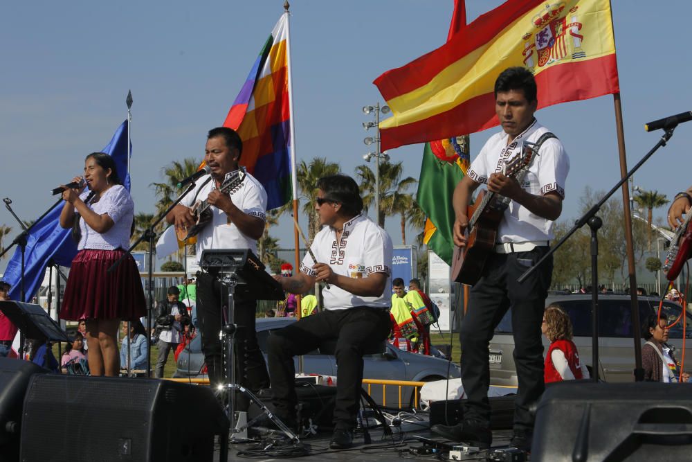
[[[514,363],[519,381],[514,428],[533,429],[534,415],[529,407],[538,401],[545,389],[540,324],[552,278],[552,258],[548,258],[522,284],[517,282],[517,278],[548,249],[536,247],[528,252],[491,254],[482,277],[471,288],[468,310],[459,330],[462,384],[468,398],[464,405],[464,418],[478,420],[486,426],[490,424],[488,345],[495,327],[511,307]]]

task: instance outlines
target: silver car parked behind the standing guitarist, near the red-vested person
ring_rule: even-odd
[[[644,322],[648,314],[658,309],[659,299],[639,296],[639,319]],[[558,303],[564,308],[574,331],[574,344],[579,358],[592,371],[592,321],[591,294],[558,294],[548,296],[545,305]],[[680,316],[682,306],[665,300],[662,317],[674,321]],[[692,337],[692,319],[686,313],[686,337]],[[644,332],[641,332],[644,335]],[[678,351],[682,348],[682,322],[670,330],[669,344]],[[644,339],[642,338],[642,344]],[[547,351],[548,341],[543,337]],[[686,357],[692,357],[692,340],[686,344]],[[490,379],[494,385],[517,385],[514,365],[514,339],[512,337],[511,313],[502,318],[490,343]],[[677,353],[678,359],[682,357]],[[631,299],[629,295],[599,294],[599,379],[605,382],[632,382],[634,380],[635,350],[632,340]],[[692,367],[685,367],[692,370]]]

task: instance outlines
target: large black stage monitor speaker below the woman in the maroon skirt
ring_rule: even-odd
[[[228,418],[208,387],[167,380],[35,375],[21,461],[212,461]]]

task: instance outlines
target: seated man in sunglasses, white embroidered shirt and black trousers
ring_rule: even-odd
[[[323,177],[315,209],[322,230],[310,246],[296,276],[275,276],[284,290],[304,294],[316,282],[324,310],[278,330],[268,338],[267,357],[277,415],[295,427],[293,356],[304,355],[336,339],[337,378],[334,436],[329,447],[353,441],[358,397],[363,382],[363,351],[383,342],[390,332],[392,239],[363,215],[363,199],[351,177]]]

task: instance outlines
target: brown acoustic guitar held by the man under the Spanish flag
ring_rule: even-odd
[[[504,175],[520,184],[531,161],[538,155],[538,143],[523,141],[519,152],[504,164]],[[480,279],[485,262],[495,247],[498,227],[511,199],[482,190],[473,205],[468,206],[470,216],[466,226],[466,247],[454,247],[452,257],[452,281],[474,285]]]

